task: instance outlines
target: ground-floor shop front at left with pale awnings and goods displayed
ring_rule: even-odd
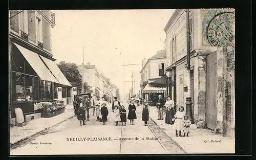
[[[54,101],[58,85],[72,87],[52,70],[56,63],[11,42],[10,50],[10,115],[11,125],[15,125],[15,108],[23,111],[24,120],[28,122],[41,117],[41,113],[51,110],[63,110],[63,102]],[[47,65],[47,63],[51,63]],[[56,65],[57,67],[57,65]],[[59,68],[57,68],[59,70]],[[60,70],[58,72],[61,72]],[[62,74],[62,73],[61,73]],[[62,74],[63,75],[63,74]],[[67,81],[63,83],[63,81]],[[46,109],[52,107],[51,109]],[[57,107],[59,106],[59,107]],[[44,109],[45,108],[45,109]],[[56,113],[55,113],[56,114]]]

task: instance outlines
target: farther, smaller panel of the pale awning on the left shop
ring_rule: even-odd
[[[59,70],[59,67],[57,66],[57,64],[54,61],[52,61],[50,59],[47,59],[47,58],[45,58],[43,56],[40,56],[40,57],[42,58],[42,60],[44,60],[46,65],[50,68],[50,70],[52,71],[52,74],[59,81],[59,84],[67,85],[67,86],[72,86],[70,84],[70,82],[67,80],[67,78],[63,75],[63,73]]]

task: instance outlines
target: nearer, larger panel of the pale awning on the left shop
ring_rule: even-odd
[[[59,81],[56,78],[54,78],[54,76],[51,74],[50,70],[48,70],[44,62],[42,62],[42,60],[40,59],[37,53],[34,53],[28,49],[25,49],[24,47],[21,47],[16,43],[14,44],[19,50],[19,52],[22,53],[22,55],[26,58],[26,60],[31,65],[31,67],[36,72],[36,74],[42,80],[59,83]]]

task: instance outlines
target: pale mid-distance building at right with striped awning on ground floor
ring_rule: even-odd
[[[145,63],[144,63],[145,62]],[[148,100],[152,100],[158,95],[165,96],[166,89],[162,87],[152,87],[150,85],[154,80],[160,79],[164,76],[164,69],[167,67],[166,60],[166,51],[161,50],[158,51],[154,56],[149,58],[147,61],[145,59],[142,61],[142,70],[141,74],[141,84],[140,84],[140,92],[141,97],[146,98]]]

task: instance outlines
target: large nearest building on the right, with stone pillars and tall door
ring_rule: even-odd
[[[234,135],[234,47],[212,44],[207,32],[215,18],[219,21],[232,13],[231,9],[189,10],[190,72],[186,68],[186,10],[176,9],[164,28],[172,99],[186,111],[187,89],[191,89],[194,122],[203,122],[224,136]],[[233,27],[232,22],[229,25]]]

